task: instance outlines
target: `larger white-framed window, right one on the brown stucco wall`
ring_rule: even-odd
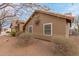
[[[43,34],[45,36],[52,36],[52,23],[43,24]]]

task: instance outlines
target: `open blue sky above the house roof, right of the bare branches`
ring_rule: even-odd
[[[41,3],[49,7],[52,12],[56,13],[68,13],[71,12],[73,15],[79,15],[79,3]],[[26,18],[26,16],[22,16],[22,19]]]

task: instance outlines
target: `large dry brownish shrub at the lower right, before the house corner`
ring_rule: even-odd
[[[54,55],[71,56],[79,54],[78,46],[72,39],[54,37],[53,44]]]

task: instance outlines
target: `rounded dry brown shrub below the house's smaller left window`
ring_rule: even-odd
[[[16,45],[18,47],[24,47],[28,46],[33,43],[33,37],[32,34],[25,32],[21,33],[19,36],[17,36],[17,42]]]

